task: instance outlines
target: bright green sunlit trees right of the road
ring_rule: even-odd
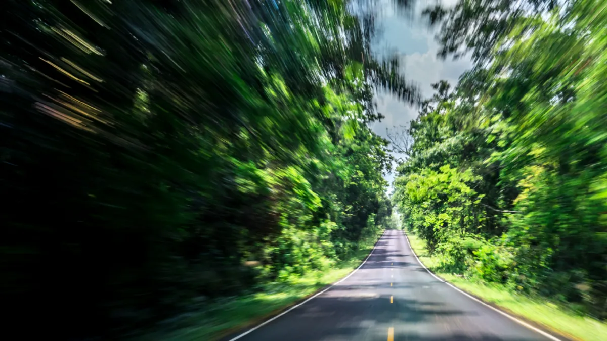
[[[473,52],[412,121],[404,224],[447,271],[607,317],[607,2],[461,1],[444,55]]]

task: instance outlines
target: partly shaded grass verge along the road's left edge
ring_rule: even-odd
[[[373,249],[375,238],[368,238],[352,257],[325,271],[313,271],[288,283],[274,283],[256,294],[225,298],[209,304],[204,311],[174,319],[165,327],[149,331],[132,341],[217,340],[239,329],[254,325],[337,282],[354,269]]]

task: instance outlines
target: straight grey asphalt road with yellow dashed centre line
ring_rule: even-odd
[[[392,338],[392,339],[391,339]],[[239,341],[548,341],[433,277],[388,230],[347,279]]]

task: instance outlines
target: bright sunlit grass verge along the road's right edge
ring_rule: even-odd
[[[607,340],[607,323],[582,316],[566,306],[538,297],[520,295],[501,285],[477,282],[439,271],[438,260],[428,254],[424,241],[415,235],[407,234],[407,236],[413,251],[430,271],[463,291],[570,339]]]

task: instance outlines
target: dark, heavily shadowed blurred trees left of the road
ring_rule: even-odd
[[[370,55],[372,15],[2,5],[0,276],[21,338],[120,333],[326,269],[390,217],[373,90],[416,95]]]

